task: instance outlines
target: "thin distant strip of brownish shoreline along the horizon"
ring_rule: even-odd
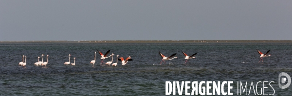
[[[0,41],[0,43],[292,43],[292,40],[90,40],[90,41]]]

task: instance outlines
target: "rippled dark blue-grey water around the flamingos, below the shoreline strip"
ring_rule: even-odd
[[[256,48],[272,56],[259,61]],[[119,57],[133,61],[117,67],[100,64],[96,49],[111,49]],[[196,59],[184,64],[184,55],[196,52]],[[160,65],[165,56],[177,53],[177,59]],[[47,67],[35,66],[37,57],[49,55]],[[68,54],[76,65],[64,65]],[[292,43],[2,43],[0,44],[0,95],[165,95],[165,81],[274,81],[275,95],[290,96],[292,86],[278,87],[278,75],[292,75]],[[18,66],[22,55],[26,67]],[[46,61],[46,57],[43,57]],[[40,59],[41,60],[41,59]],[[104,62],[111,61],[111,58]],[[243,63],[244,62],[244,63]],[[265,93],[273,94],[266,89]],[[184,92],[183,92],[184,94]],[[252,93],[251,93],[252,94]],[[177,94],[178,95],[178,94]]]

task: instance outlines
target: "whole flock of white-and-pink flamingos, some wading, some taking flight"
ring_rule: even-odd
[[[97,50],[97,51],[98,51],[98,50]],[[270,52],[270,50],[268,50],[268,51],[266,52],[266,54],[263,54],[263,53],[260,52],[258,49],[256,49],[256,51],[260,54],[260,60],[259,60],[259,62],[260,62],[260,61],[263,62],[263,59],[262,59],[263,57],[271,56],[271,54],[270,54],[270,55],[267,55],[267,54]],[[182,52],[183,52],[183,51],[182,51]],[[108,65],[110,66],[110,64],[112,63],[112,60],[113,60],[113,57],[112,57],[112,56],[113,56],[114,54],[112,53],[110,56],[107,57],[107,55],[110,53],[110,50],[108,50],[108,51],[106,52],[106,54],[102,54],[100,51],[98,51],[98,53],[99,53],[100,56],[101,56],[100,59],[102,59],[101,64],[103,63],[103,61],[104,61],[106,58],[111,57],[111,61],[109,61],[109,62],[106,63],[106,64],[108,64]],[[185,56],[184,59],[186,59],[186,61],[184,62],[184,64],[187,62],[187,60],[189,60],[189,59],[193,59],[193,58],[196,58],[196,57],[194,57],[196,54],[197,54],[197,53],[195,53],[195,54],[193,54],[193,55],[191,55],[191,56],[188,56],[186,53],[183,52],[183,55]],[[165,60],[172,60],[172,59],[174,59],[174,58],[178,58],[178,57],[174,57],[174,56],[176,55],[176,53],[172,54],[172,55],[169,56],[169,57],[165,57],[165,56],[159,51],[159,55],[162,57],[162,61],[160,62],[160,64],[162,64],[162,62],[165,63]],[[38,65],[45,65],[45,67],[46,67],[46,65],[48,64],[48,56],[49,56],[49,55],[47,55],[47,62],[43,62],[43,56],[44,56],[44,54],[41,55],[41,61],[39,61],[39,58],[40,58],[40,57],[37,57],[38,62],[36,62],[35,65],[37,65],[37,66],[38,66]],[[70,56],[71,56],[71,55],[69,54],[69,62],[65,62],[64,64],[70,64]],[[94,52],[94,60],[92,60],[92,61],[90,62],[90,64],[93,64],[93,66],[94,66],[94,63],[95,63],[95,56],[96,56],[96,52]],[[121,61],[122,65],[127,64],[128,61],[132,61],[132,59],[131,59],[130,56],[129,56],[128,58],[126,58],[126,59],[124,59],[123,57],[120,57],[120,58],[118,59],[118,56],[119,56],[119,55],[117,55],[117,62],[116,62],[116,63],[113,63],[112,66],[116,66],[116,65],[118,64],[118,60]],[[23,61],[24,57],[25,57],[25,61]],[[171,58],[171,57],[173,57],[173,58]],[[72,65],[75,65],[75,59],[76,59],[76,58],[74,57],[74,58],[73,58],[74,63],[71,63]],[[26,65],[26,56],[22,55],[22,62],[19,62],[18,65],[21,65],[21,66],[24,66],[24,67],[25,67],[25,65]]]

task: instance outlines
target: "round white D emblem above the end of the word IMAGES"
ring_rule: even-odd
[[[288,79],[288,82],[287,82],[286,85],[281,85],[281,83],[285,83],[286,80],[287,80],[286,78],[282,78],[281,79],[281,76],[285,76]],[[288,88],[290,86],[290,84],[291,84],[291,77],[287,73],[282,72],[282,73],[279,74],[278,81],[279,81],[279,83],[278,83],[279,87],[281,89],[285,89],[285,88]]]

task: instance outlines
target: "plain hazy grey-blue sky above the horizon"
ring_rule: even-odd
[[[11,40],[292,40],[292,0],[0,0]]]

